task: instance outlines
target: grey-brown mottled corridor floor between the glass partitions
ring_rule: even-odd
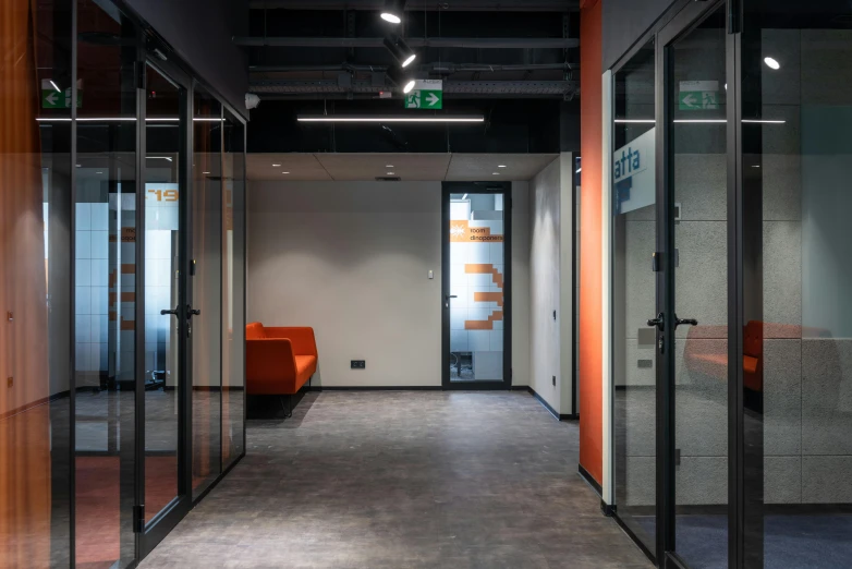
[[[308,394],[141,568],[650,567],[576,465],[527,394]]]

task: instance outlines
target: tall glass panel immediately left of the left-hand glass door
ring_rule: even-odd
[[[77,0],[76,565],[135,558],[137,28]]]

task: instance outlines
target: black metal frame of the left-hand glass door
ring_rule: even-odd
[[[188,334],[192,291],[190,281],[190,252],[192,251],[192,117],[193,80],[179,65],[170,62],[171,51],[157,38],[145,35],[139,46],[139,75],[137,92],[137,191],[136,191],[136,512],[137,559],[145,558],[174,529],[192,509],[192,337]],[[145,169],[147,167],[147,85],[146,70],[150,66],[179,87],[180,157],[178,165],[178,257],[180,278],[178,306],[173,318],[178,324],[178,495],[161,511],[145,522]],[[172,306],[169,306],[171,308]],[[160,308],[160,307],[158,307]],[[163,306],[165,308],[165,306]]]

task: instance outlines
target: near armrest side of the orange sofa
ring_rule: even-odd
[[[246,340],[245,378],[253,395],[292,394],[296,363],[291,341],[285,338]]]

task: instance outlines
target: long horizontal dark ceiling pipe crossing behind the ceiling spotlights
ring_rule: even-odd
[[[233,43],[245,47],[341,47],[384,48],[381,37],[251,37],[234,36]],[[411,47],[471,49],[570,49],[580,47],[580,39],[561,37],[411,37]]]

